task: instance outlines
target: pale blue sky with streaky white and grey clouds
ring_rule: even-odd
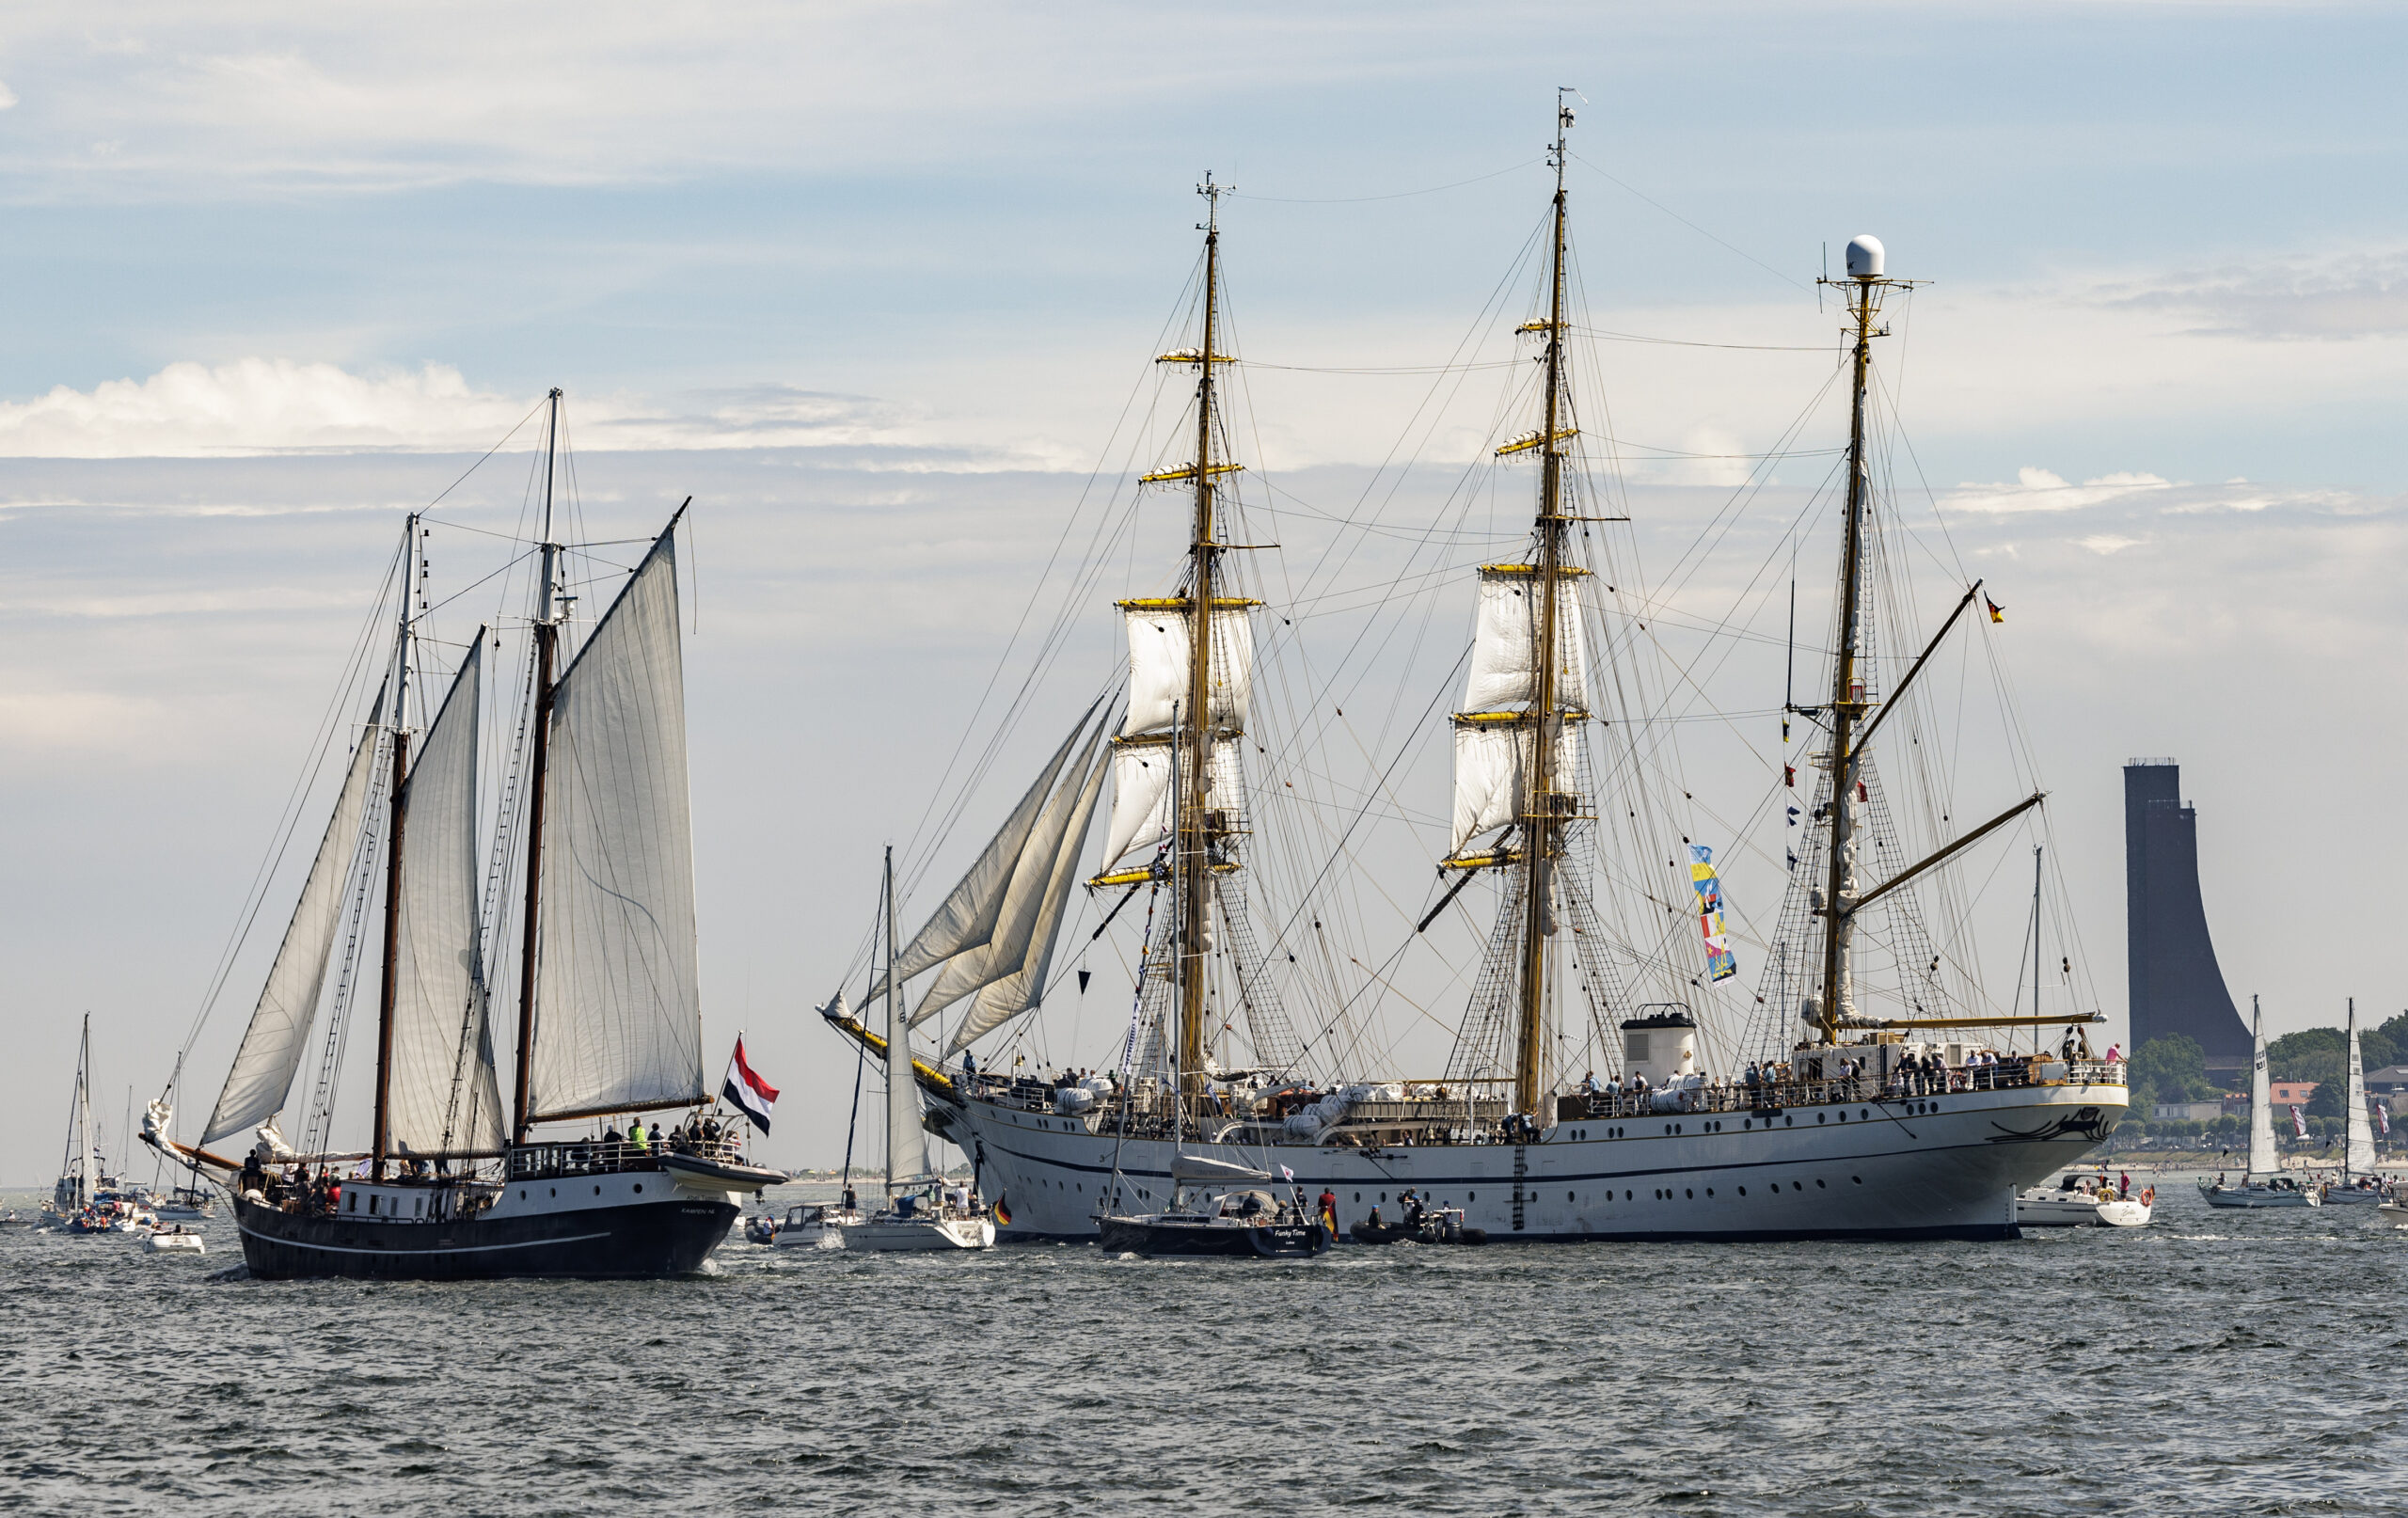
[[[1801,426],[1743,525],[1666,578],[1669,626],[1743,607],[1753,631],[1714,704],[1777,706],[1760,569],[1828,467],[1804,451],[1845,429],[1813,280],[1873,231],[1929,280],[1883,352],[1934,571],[1917,607],[1936,619],[1965,576],[2008,607],[1972,646],[2023,747],[1967,805],[2052,790],[2095,1002],[2121,1019],[2117,766],[2170,754],[2235,995],[2264,993],[2276,1031],[2348,995],[2408,1007],[2357,947],[2408,911],[2384,805],[2408,740],[2386,675],[2403,43],[2374,5],[22,7],[0,36],[0,1101],[53,1132],[82,1010],[101,1092],[164,1084],[400,516],[453,487],[445,614],[506,617],[470,586],[525,501],[520,424],[561,386],[595,537],[696,496],[706,1063],[746,1029],[787,1087],[768,1157],[833,1161],[852,1065],[809,1007],[852,964],[881,843],[922,848],[937,889],[980,841],[922,829],[929,798],[992,737],[1014,629],[1069,605],[1047,566],[1100,520],[1091,475],[1170,448],[1149,359],[1194,275],[1194,183],[1235,186],[1245,446],[1286,513],[1264,583],[1312,583],[1346,542],[1365,595],[1459,511],[1495,426],[1491,376],[1433,402],[1428,369],[1510,352],[1556,87],[1577,89],[1584,383],[1633,559],[1686,566],[1743,455]],[[1510,511],[1483,511],[1507,542]],[[1110,679],[1103,600],[1165,564],[1132,537],[1091,588],[1062,689],[966,817]],[[1373,624],[1329,612],[1298,643],[1336,667]],[[1358,689],[1421,711],[1452,658],[1423,653],[1365,658]],[[1748,723],[1700,740],[1690,790],[1734,839],[1734,911],[1770,920],[1777,829],[1743,822],[1777,745]],[[1442,754],[1397,786],[1442,812]],[[195,1043],[200,1087],[260,952]],[[1122,1014],[1079,1017],[1057,1058],[1103,1063]]]

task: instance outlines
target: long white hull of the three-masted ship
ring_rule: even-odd
[[[1406,1190],[1488,1241],[2013,1238],[2015,1195],[2081,1159],[2126,1108],[2117,1084],[1568,1120],[1524,1145],[1115,1140],[1086,1120],[970,1099],[949,1128],[1011,1222],[1002,1241],[1093,1238],[1105,1205],[1170,1195],[1173,1154],[1293,1173],[1339,1231]],[[1120,1173],[1120,1195],[1110,1185]],[[1281,1176],[1279,1185],[1288,1185]]]

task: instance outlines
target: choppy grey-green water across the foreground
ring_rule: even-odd
[[[2023,1243],[730,1241],[643,1284],[212,1279],[209,1231],[0,1231],[0,1508],[2408,1508],[2408,1234],[2186,1183]]]

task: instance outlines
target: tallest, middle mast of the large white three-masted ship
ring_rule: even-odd
[[[1531,629],[1539,648],[1536,701],[1529,708],[1529,790],[1522,807],[1522,1024],[1515,1039],[1512,1096],[1517,1113],[1539,1111],[1539,1087],[1546,1072],[1546,940],[1556,932],[1553,865],[1563,853],[1563,805],[1556,795],[1556,740],[1563,713],[1556,711],[1556,578],[1563,569],[1563,243],[1565,243],[1565,133],[1572,108],[1556,92],[1556,243],[1546,292],[1546,407],[1539,422],[1539,573],[1531,593],[1539,598]]]

